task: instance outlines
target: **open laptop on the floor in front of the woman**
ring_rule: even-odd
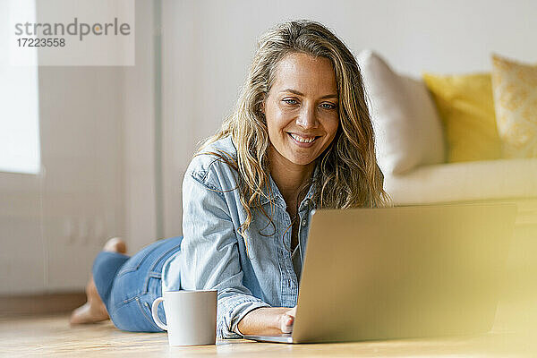
[[[494,322],[514,204],[311,213],[293,333],[320,343],[474,335]]]

